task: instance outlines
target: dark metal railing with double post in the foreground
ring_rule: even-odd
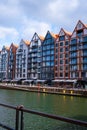
[[[39,115],[39,116],[42,116],[42,117],[46,117],[46,118],[50,118],[50,119],[63,121],[63,122],[66,122],[66,123],[71,123],[71,124],[87,127],[87,122],[85,122],[85,121],[80,121],[80,120],[75,120],[75,119],[66,118],[66,117],[62,117],[62,116],[57,116],[57,115],[53,115],[53,114],[47,114],[47,113],[43,113],[43,112],[38,112],[38,111],[34,111],[34,110],[25,109],[23,107],[23,105],[20,105],[20,106],[16,107],[16,106],[0,103],[0,106],[7,107],[7,108],[10,108],[10,109],[14,109],[16,111],[15,129],[10,128],[9,126],[6,126],[6,125],[0,123],[0,127],[4,128],[6,130],[24,130],[23,113],[31,113],[31,114],[34,114],[34,115]]]

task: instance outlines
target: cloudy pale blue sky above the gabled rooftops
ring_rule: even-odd
[[[78,20],[87,23],[86,0],[2,0],[0,1],[0,49],[33,34],[73,31]]]

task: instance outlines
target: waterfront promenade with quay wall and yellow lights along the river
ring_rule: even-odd
[[[41,92],[48,94],[61,94],[70,96],[83,96],[87,97],[87,89],[81,88],[65,88],[65,87],[49,87],[49,86],[29,86],[29,85],[16,85],[16,84],[0,84],[0,89],[12,89],[30,92]]]

